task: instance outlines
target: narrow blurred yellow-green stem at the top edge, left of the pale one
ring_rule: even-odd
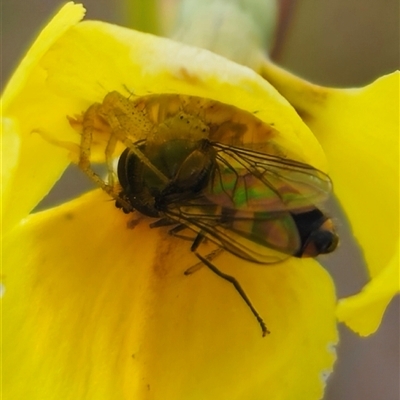
[[[158,9],[157,0],[125,0],[125,22],[130,28],[157,35],[160,33]]]

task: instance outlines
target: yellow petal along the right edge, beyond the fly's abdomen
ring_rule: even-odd
[[[398,259],[399,240],[399,72],[360,89],[318,87],[271,64],[265,65],[263,75],[294,105],[323,146],[335,194],[364,251],[371,278],[390,275],[397,283],[399,265],[393,266],[393,260]],[[358,304],[372,307],[376,301],[380,312],[368,314],[370,324],[360,326],[352,317],[353,329],[366,335],[369,325],[369,333],[375,331],[376,318],[389,300],[382,303],[370,287],[386,282],[383,297],[393,295],[398,284],[393,291],[391,279],[379,278],[365,288]],[[344,322],[347,305],[352,308],[348,315],[353,314],[356,299],[341,304]]]

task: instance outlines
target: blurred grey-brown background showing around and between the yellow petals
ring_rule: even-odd
[[[64,3],[2,0],[2,85],[41,27]],[[129,25],[132,19],[127,17],[126,3],[86,0],[86,18]],[[370,83],[399,69],[398,0],[281,0],[280,3],[285,10],[284,23],[273,58],[298,75],[323,85],[349,87]],[[129,9],[136,12],[135,20],[143,19],[144,14],[135,5],[135,1],[129,4]],[[176,0],[159,0],[158,7],[162,10],[160,15],[166,31],[173,23]],[[72,198],[87,188],[86,177],[71,168],[40,207]],[[385,193],[378,195],[377,201],[384,203]],[[337,283],[338,295],[347,296],[359,290],[367,276],[340,207],[332,204],[331,213],[338,221],[341,246],[326,264]],[[379,218],[379,215],[366,218]],[[390,304],[379,331],[369,338],[361,339],[340,326],[338,363],[328,381],[326,400],[400,398],[399,303],[397,297]]]

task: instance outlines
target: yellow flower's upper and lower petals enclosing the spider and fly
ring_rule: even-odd
[[[231,285],[206,268],[183,275],[197,262],[190,242],[150,229],[146,218],[127,229],[105,193],[29,214],[69,164],[68,152],[37,132],[77,143],[66,116],[112,90],[257,110],[282,144],[327,170],[311,131],[257,73],[167,39],[81,23],[83,14],[64,6],[2,99],[5,396],[320,398],[335,360],[336,299],[315,260],[266,267],[218,257],[264,316],[271,334],[262,338]]]

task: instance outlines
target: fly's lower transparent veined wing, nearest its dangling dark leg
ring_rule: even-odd
[[[165,214],[251,262],[280,262],[295,255],[301,246],[296,223],[286,211],[226,209],[198,196],[185,204],[171,205]]]

